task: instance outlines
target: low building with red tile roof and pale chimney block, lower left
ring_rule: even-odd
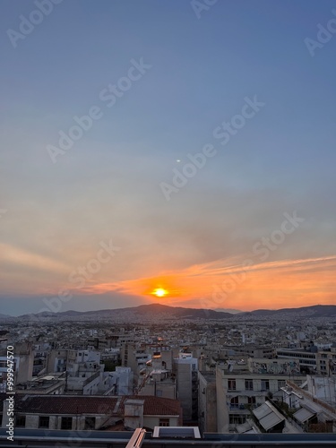
[[[8,424],[8,401],[0,394],[2,427]],[[135,429],[144,426],[182,426],[177,400],[157,397],[24,395],[15,399],[15,429]]]

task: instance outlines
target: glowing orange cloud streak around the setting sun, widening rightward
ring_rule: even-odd
[[[101,283],[90,293],[118,291],[149,297],[153,289],[168,290],[167,305],[208,308],[282,308],[336,303],[336,256],[256,263],[219,260],[162,275]]]

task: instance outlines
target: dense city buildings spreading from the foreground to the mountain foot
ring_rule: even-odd
[[[18,428],[336,432],[333,317],[19,321],[1,323],[2,427],[10,344]]]

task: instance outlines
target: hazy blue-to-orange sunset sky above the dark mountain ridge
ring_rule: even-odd
[[[336,305],[334,0],[0,7],[1,314]]]

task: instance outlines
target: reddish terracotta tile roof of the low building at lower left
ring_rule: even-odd
[[[0,394],[0,401],[5,398],[6,394]],[[15,411],[31,414],[108,414],[121,417],[124,416],[127,399],[143,400],[144,416],[179,416],[182,413],[179,401],[147,395],[16,395]]]

